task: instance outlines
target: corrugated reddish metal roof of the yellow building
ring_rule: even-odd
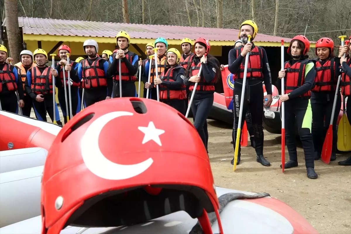
[[[42,18],[18,18],[19,27],[24,34],[34,35],[62,35],[62,36],[91,36],[114,38],[119,31],[126,31],[131,38],[158,38],[195,40],[204,37],[210,41],[235,41],[238,38],[237,29],[204,28],[171,25],[143,25],[112,22],[95,22],[79,20],[60,20]],[[3,23],[6,26],[6,19]],[[290,42],[291,38],[282,38],[265,34],[257,34],[255,41]]]

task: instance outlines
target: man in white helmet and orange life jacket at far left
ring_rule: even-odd
[[[12,58],[7,58],[7,60],[11,62],[13,61]],[[33,99],[29,95],[27,95],[24,85],[25,85],[25,81],[27,77],[26,74],[28,69],[37,66],[37,64],[33,62],[33,53],[31,51],[28,51],[27,49],[25,49],[24,51],[21,51],[20,60],[21,61],[16,63],[14,67],[17,69],[19,78],[22,80],[22,87],[24,90],[24,99],[23,99],[24,107],[22,107],[22,114],[24,116],[30,117],[32,106],[33,106]]]

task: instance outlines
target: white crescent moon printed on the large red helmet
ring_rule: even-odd
[[[107,180],[129,179],[143,173],[153,163],[152,158],[148,158],[137,164],[121,165],[106,159],[101,153],[99,135],[102,128],[112,119],[126,115],[133,115],[133,113],[116,111],[100,116],[87,128],[81,139],[80,147],[85,165],[92,173],[101,178]],[[112,134],[111,137],[113,137]],[[115,146],[111,145],[111,151],[115,150]]]

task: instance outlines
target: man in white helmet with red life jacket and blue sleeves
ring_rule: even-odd
[[[77,75],[84,88],[84,106],[110,99],[112,96],[112,79],[107,77],[108,62],[97,56],[98,43],[88,39],[83,44],[84,52],[88,58],[78,65]],[[83,101],[83,100],[82,100]]]

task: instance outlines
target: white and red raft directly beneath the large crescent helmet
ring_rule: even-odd
[[[233,189],[216,187],[217,195],[242,192]],[[261,204],[260,204],[261,203]],[[275,204],[267,207],[267,204]],[[264,206],[265,205],[265,206]],[[282,213],[283,212],[283,213]],[[284,214],[284,216],[283,216]],[[220,214],[224,233],[318,233],[301,215],[291,207],[272,197],[253,200],[234,200],[228,203]],[[66,233],[189,233],[196,224],[184,211],[165,215],[147,223],[133,226],[114,228],[81,228],[68,226],[61,231]],[[212,226],[214,233],[218,233],[217,221]],[[12,225],[0,228],[0,233],[6,234],[40,234],[41,217],[37,216]]]

